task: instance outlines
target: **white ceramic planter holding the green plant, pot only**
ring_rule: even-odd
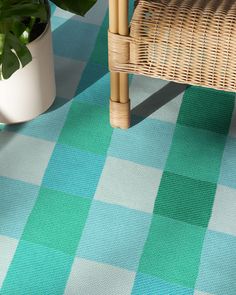
[[[28,45],[33,60],[10,79],[0,80],[0,123],[29,121],[45,112],[56,96],[50,24]]]

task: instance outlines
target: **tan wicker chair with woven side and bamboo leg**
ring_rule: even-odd
[[[236,0],[109,0],[110,122],[130,126],[128,73],[236,90]]]

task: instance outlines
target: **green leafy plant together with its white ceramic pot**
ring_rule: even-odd
[[[97,0],[51,0],[84,15]],[[56,96],[48,0],[0,0],[0,123],[31,120]]]

